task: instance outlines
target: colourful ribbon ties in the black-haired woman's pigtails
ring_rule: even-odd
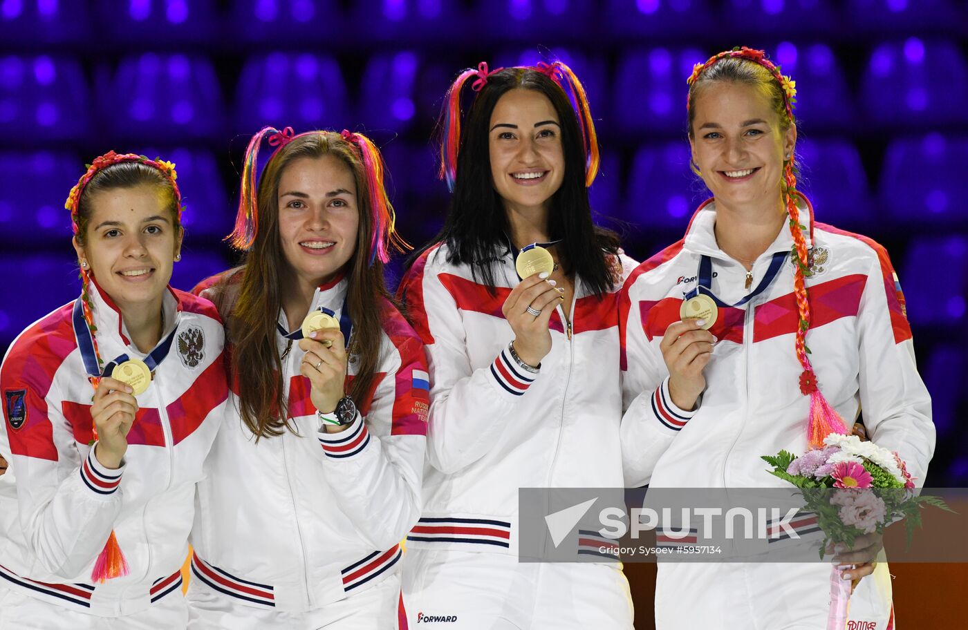
[[[461,89],[469,77],[476,76],[470,88],[480,92],[488,84],[491,75],[505,70],[489,71],[487,62],[477,64],[477,68],[468,68],[454,79],[444,97],[443,111],[440,116],[440,169],[438,176],[447,182],[447,188],[453,192],[457,180],[457,156],[461,150]],[[555,81],[568,95],[572,106],[578,114],[578,124],[581,128],[582,143],[585,147],[585,185],[591,185],[598,172],[598,137],[595,135],[594,122],[591,118],[588,95],[578,77],[565,64],[555,61],[551,64],[539,62],[536,66],[515,66],[508,70],[531,70],[541,73]],[[569,94],[570,93],[570,94]],[[476,98],[476,97],[474,97]]]

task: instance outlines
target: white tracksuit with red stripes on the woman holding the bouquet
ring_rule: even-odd
[[[736,304],[751,290],[745,288],[745,269],[717,247],[714,223],[715,205],[707,202],[685,237],[642,263],[622,291],[627,411],[621,435],[630,486],[790,488],[769,474],[760,456],[807,450],[810,401],[799,386],[802,367],[794,348],[799,315],[789,257],[771,285],[744,308],[720,308],[711,328],[719,341],[699,406],[686,412],[672,405],[659,343],[669,324],[680,320],[683,294],[697,283],[700,256],[711,256],[711,289],[722,301]],[[870,439],[896,450],[920,485],[934,450],[934,425],[887,252],[868,238],[814,224],[808,204],[801,223],[808,226],[812,250],[806,345],[821,391],[848,426],[862,408]],[[792,246],[784,224],[753,265],[753,287],[771,255]],[[830,573],[830,565],[819,562],[661,562],[656,627],[826,627]],[[851,598],[851,619],[884,630],[890,617],[890,579],[880,563]]]

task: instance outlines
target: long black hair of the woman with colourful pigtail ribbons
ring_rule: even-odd
[[[558,248],[566,273],[581,276],[592,293],[606,293],[619,280],[605,259],[605,254],[618,253],[619,236],[591,221],[579,120],[560,84],[536,68],[506,68],[487,75],[487,83],[477,93],[461,126],[454,194],[443,227],[430,244],[410,256],[408,264],[434,244],[446,243],[447,261],[468,264],[474,280],[479,278],[494,292],[493,262],[498,248],[507,244],[509,226],[491,174],[489,126],[500,97],[516,88],[546,96],[561,122],[564,179],[551,198],[549,237],[561,239]],[[444,105],[441,134],[448,114]]]

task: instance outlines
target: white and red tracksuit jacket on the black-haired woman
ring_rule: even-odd
[[[438,245],[414,261],[400,294],[427,346],[431,423],[420,523],[410,549],[518,553],[519,488],[620,488],[618,296],[575,281],[570,326],[552,315],[539,374],[507,352],[501,313],[520,283],[496,250],[495,294]],[[624,279],[635,262],[612,258]]]

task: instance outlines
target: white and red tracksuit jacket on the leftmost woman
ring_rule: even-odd
[[[89,292],[102,359],[143,358],[109,298],[95,283]],[[223,326],[206,300],[168,290],[163,339],[177,330],[136,397],[122,466],[110,470],[88,445],[94,389],[76,341],[74,305],[21,333],[0,369],[0,452],[11,464],[0,476],[0,583],[91,615],[132,615],[181,586],[195,484],[227,406]],[[131,573],[92,585],[112,528]]]

